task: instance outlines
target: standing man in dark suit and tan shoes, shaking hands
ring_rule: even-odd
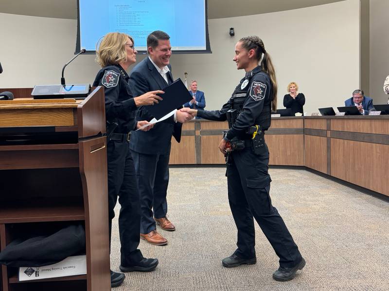
[[[169,39],[170,36],[162,31],[151,32],[147,36],[148,57],[136,65],[130,75],[129,84],[135,96],[150,90],[163,90],[173,82],[169,65],[172,55]],[[182,123],[193,118],[189,113],[182,113],[176,111],[173,116],[157,123],[147,133],[139,130],[131,135],[130,149],[141,198],[141,239],[151,244],[167,244],[167,240],[157,232],[156,223],[164,230],[176,230],[166,218],[166,191],[169,183],[168,165],[172,135],[179,143]],[[153,118],[146,107],[141,106],[138,109],[137,120],[150,121]]]

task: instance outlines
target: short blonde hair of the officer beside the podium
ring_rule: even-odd
[[[96,44],[96,63],[101,67],[117,65],[127,61],[125,44],[128,38],[134,45],[131,36],[121,32],[109,32]],[[98,48],[98,49],[97,49]]]

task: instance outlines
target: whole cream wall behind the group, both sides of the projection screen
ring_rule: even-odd
[[[0,87],[59,83],[62,66],[75,48],[76,21],[0,14]],[[228,30],[235,28],[235,36]],[[340,106],[359,86],[359,0],[290,11],[209,20],[212,54],[174,55],[173,74],[197,79],[207,109],[219,109],[243,71],[232,62],[236,41],[257,34],[273,58],[279,83],[279,108],[289,81],[307,98],[304,111]],[[190,33],[190,32],[188,32]],[[141,60],[144,56],[139,56]],[[94,55],[82,55],[66,68],[67,82],[91,83],[99,69]]]

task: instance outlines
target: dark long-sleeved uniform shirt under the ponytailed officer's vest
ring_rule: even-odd
[[[261,66],[257,66],[252,71],[246,73],[246,76],[239,82],[231,96],[233,98],[235,95],[238,96],[240,94],[241,96],[246,96],[246,100],[243,104],[243,112],[239,114],[233,126],[227,131],[227,139],[231,140],[234,137],[238,137],[238,139],[244,138],[246,129],[258,124],[258,117],[264,109],[264,104],[269,105],[272,100],[271,92],[272,84],[270,78],[262,71]],[[216,121],[226,121],[226,113],[229,109],[230,103],[227,102],[221,110],[197,111],[197,116]],[[268,115],[268,118],[270,118],[270,112]]]

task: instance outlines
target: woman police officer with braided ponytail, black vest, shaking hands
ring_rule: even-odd
[[[259,61],[262,59],[261,65]],[[253,216],[280,258],[280,268],[273,273],[277,281],[293,279],[305,265],[296,243],[283,219],[271,205],[269,152],[263,131],[270,126],[270,112],[277,108],[277,82],[269,54],[258,36],[241,38],[235,46],[233,61],[246,76],[235,88],[220,111],[181,111],[199,117],[229,122],[229,130],[219,144],[227,158],[230,208],[238,228],[238,248],[222,260],[225,267],[255,264]]]

